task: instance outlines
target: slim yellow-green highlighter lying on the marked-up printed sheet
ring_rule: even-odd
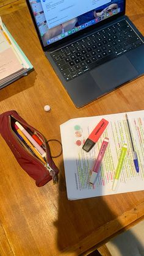
[[[123,167],[123,161],[124,161],[124,158],[126,156],[127,149],[128,149],[127,144],[124,144],[123,147],[121,148],[120,158],[118,159],[118,165],[117,165],[117,169],[115,171],[115,177],[114,177],[113,183],[112,183],[112,190],[113,191],[117,187],[117,183],[118,183],[118,180],[120,178],[120,173],[121,173],[121,169]]]

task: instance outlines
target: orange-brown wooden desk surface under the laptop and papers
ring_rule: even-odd
[[[143,0],[128,0],[127,15],[144,34]],[[1,15],[1,10],[0,10]],[[15,109],[48,139],[60,140],[59,125],[74,117],[144,109],[144,76],[76,109],[41,49],[27,7],[2,20],[34,65],[34,71],[0,90],[0,113]],[[43,106],[49,104],[51,112]],[[143,218],[144,191],[68,201],[63,157],[58,185],[35,186],[0,137],[0,254],[79,255],[90,252]],[[57,144],[52,144],[57,154]]]

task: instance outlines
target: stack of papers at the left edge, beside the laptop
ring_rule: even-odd
[[[32,68],[0,17],[0,88],[27,75]]]

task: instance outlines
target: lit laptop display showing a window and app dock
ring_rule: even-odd
[[[124,11],[124,0],[27,0],[43,46]]]

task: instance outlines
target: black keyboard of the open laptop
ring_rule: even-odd
[[[101,29],[51,53],[66,81],[142,45],[126,20]]]

